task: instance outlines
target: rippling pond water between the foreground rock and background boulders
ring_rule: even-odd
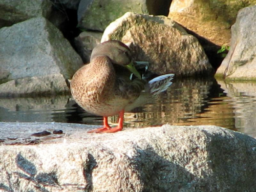
[[[147,103],[125,113],[124,127],[218,125],[256,137],[256,82],[225,83],[215,79],[175,79]],[[0,98],[2,122],[70,122],[102,124],[70,96]],[[109,117],[110,124],[117,116]]]

